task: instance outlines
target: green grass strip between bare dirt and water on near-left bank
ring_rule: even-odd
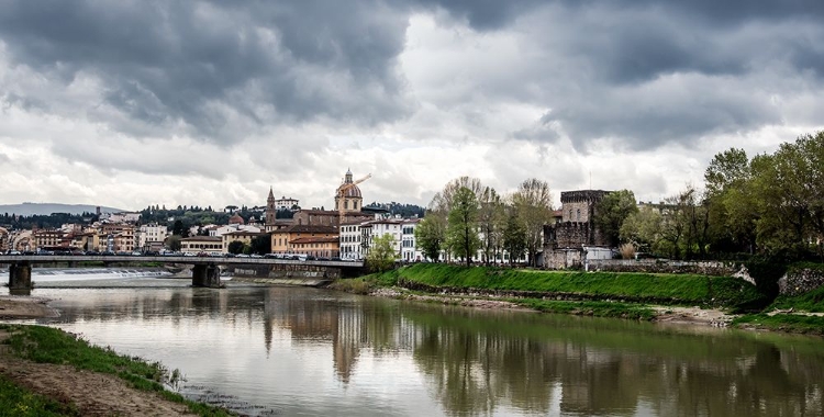
[[[183,398],[180,394],[164,388],[164,383],[174,384],[180,381],[177,370],[168,372],[160,363],[146,363],[136,357],[121,356],[111,349],[90,345],[88,341],[62,330],[44,326],[0,325],[9,333],[3,345],[22,359],[40,363],[68,364],[77,369],[116,375],[136,390],[156,392],[162,397],[185,404],[192,413],[200,416],[233,416],[224,409]],[[0,398],[16,398],[14,387],[0,390]],[[2,401],[2,399],[0,399]],[[38,404],[38,403],[32,403]],[[32,415],[47,415],[53,407],[43,403],[42,412]],[[2,403],[0,403],[2,405]],[[34,406],[34,405],[30,405]],[[40,405],[37,405],[41,407]],[[60,415],[60,414],[57,414]],[[71,414],[64,414],[71,415]]]

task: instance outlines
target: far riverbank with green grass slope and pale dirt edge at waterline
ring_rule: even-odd
[[[467,269],[430,263],[338,280],[331,288],[486,308],[824,335],[824,317],[820,315],[775,314],[773,305],[794,305],[799,300],[781,297],[770,304],[754,285],[732,277]],[[824,293],[824,289],[820,291]],[[824,298],[816,294],[806,297]],[[748,312],[753,305],[769,306],[762,312]],[[821,308],[824,311],[824,306]]]

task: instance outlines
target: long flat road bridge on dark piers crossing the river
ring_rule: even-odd
[[[337,269],[339,271],[359,271],[363,261],[339,260],[297,260],[277,258],[230,258],[230,257],[191,257],[191,256],[114,256],[114,255],[0,255],[0,264],[9,264],[9,290],[31,290],[32,264],[67,262],[103,262],[110,263],[182,263],[192,266],[192,286],[221,288],[221,266],[270,267],[301,266],[319,269]]]

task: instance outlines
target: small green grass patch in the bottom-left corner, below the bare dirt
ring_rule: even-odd
[[[79,416],[74,404],[63,404],[35,394],[0,374],[0,417]]]

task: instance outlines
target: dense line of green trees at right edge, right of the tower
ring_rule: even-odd
[[[824,132],[753,158],[730,148],[710,161],[703,190],[630,213],[619,238],[675,259],[824,259],[823,170]]]

